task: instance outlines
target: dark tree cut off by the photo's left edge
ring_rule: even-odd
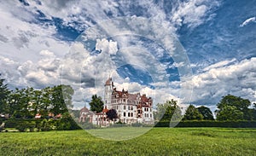
[[[4,84],[3,82],[4,79],[0,79],[0,113],[8,113],[7,99],[10,91],[7,84]]]

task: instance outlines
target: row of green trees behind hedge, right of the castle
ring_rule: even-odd
[[[214,120],[210,108],[201,106],[195,107],[189,105],[182,117],[181,107],[177,101],[166,101],[163,104],[157,104],[157,111],[154,113],[155,119],[159,121],[175,120]],[[256,120],[256,104],[247,99],[236,95],[224,95],[217,104],[215,111],[218,121],[237,121],[237,120]]]

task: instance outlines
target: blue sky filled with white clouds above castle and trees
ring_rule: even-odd
[[[255,102],[255,10],[255,0],[1,0],[1,78],[11,89],[72,85],[75,107],[109,77],[155,102]]]

